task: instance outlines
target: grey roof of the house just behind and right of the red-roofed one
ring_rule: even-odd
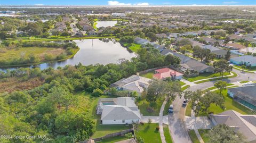
[[[198,62],[193,59],[189,60],[186,63],[180,64],[180,65],[183,66],[183,68],[191,69],[191,70],[194,70],[197,72],[201,72],[207,68],[211,68],[212,70],[214,69],[212,66],[206,65],[204,63]]]

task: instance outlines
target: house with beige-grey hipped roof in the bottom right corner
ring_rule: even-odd
[[[242,115],[234,110],[210,115],[214,125],[226,124],[240,132],[251,143],[256,142],[256,115]]]

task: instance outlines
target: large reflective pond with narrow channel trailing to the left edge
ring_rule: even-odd
[[[111,40],[111,39],[84,39],[84,40],[74,40],[80,50],[76,53],[73,58],[61,62],[52,62],[52,63],[42,63],[33,66],[25,67],[38,67],[41,70],[52,67],[54,69],[58,66],[65,65],[76,65],[82,63],[83,65],[90,64],[109,64],[117,63],[120,58],[125,58],[130,60],[132,57],[135,57],[135,53],[128,51],[127,48],[121,46],[120,43]],[[0,71],[15,70],[20,67],[15,68],[0,68]]]

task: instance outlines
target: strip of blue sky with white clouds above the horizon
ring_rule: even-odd
[[[256,5],[256,0],[0,0],[0,5]]]

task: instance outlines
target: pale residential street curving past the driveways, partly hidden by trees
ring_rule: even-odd
[[[228,83],[246,81],[248,80],[248,77],[250,77],[249,80],[256,81],[255,73],[242,73],[241,71],[236,69],[233,69],[233,72],[237,73],[238,76],[235,78],[224,79],[224,81],[227,81]],[[187,90],[195,91],[197,89],[207,89],[209,87],[214,86],[214,82],[215,81],[200,83],[195,86],[191,86]],[[171,136],[174,143],[192,142],[185,126],[185,107],[182,106],[183,99],[183,97],[177,97],[173,101],[174,112],[169,114],[169,130],[171,132]]]

